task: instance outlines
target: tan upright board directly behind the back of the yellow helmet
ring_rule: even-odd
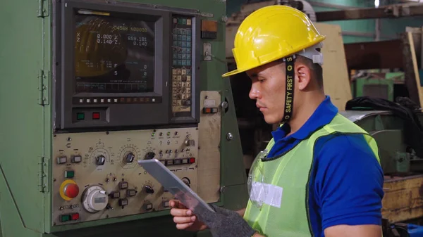
[[[324,91],[331,96],[331,100],[338,110],[345,110],[351,95],[350,80],[348,77],[347,60],[339,25],[314,23],[321,34],[326,35],[321,49],[323,53]]]

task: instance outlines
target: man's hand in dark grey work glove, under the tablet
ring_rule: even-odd
[[[195,207],[198,219],[209,226],[214,237],[251,237],[255,234],[239,212],[212,205],[212,212],[201,205]]]

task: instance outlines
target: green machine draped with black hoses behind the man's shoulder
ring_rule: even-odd
[[[423,172],[420,165],[423,162],[423,134],[411,125],[411,120],[387,110],[345,110],[341,114],[376,140],[384,174],[405,176]],[[423,118],[422,113],[416,116],[419,120]]]

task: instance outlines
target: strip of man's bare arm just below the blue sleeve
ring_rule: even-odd
[[[358,226],[338,225],[331,226],[324,230],[326,237],[381,237],[381,226],[366,224]]]

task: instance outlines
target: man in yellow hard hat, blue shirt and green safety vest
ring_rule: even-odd
[[[383,172],[377,146],[338,114],[322,84],[321,41],[307,16],[288,6],[249,15],[235,36],[237,70],[269,124],[282,123],[249,175],[250,199],[233,212],[171,202],[178,229],[231,237],[380,237]]]

